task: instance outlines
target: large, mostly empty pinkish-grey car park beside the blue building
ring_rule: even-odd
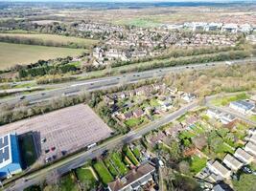
[[[9,132],[32,132],[39,161],[45,162],[108,138],[112,130],[89,106],[80,104],[0,127],[0,135]]]

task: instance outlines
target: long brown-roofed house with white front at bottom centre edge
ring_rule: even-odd
[[[152,181],[152,174],[155,167],[151,163],[143,164],[136,169],[132,169],[122,179],[108,183],[109,191],[139,190],[141,186]]]

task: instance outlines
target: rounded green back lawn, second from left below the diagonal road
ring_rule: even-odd
[[[90,187],[95,187],[97,185],[97,180],[95,180],[95,177],[89,167],[83,166],[76,169],[76,174],[82,183],[88,183]]]

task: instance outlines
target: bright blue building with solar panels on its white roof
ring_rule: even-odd
[[[8,134],[0,137],[0,178],[9,178],[21,171],[16,135]]]

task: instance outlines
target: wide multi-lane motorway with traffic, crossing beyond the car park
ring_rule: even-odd
[[[234,60],[233,63],[244,64],[247,62],[254,62],[254,61],[256,61],[256,57],[247,58],[243,60]],[[49,84],[40,85],[38,86],[39,88],[47,88],[48,90],[32,93],[26,96],[11,96],[11,97],[2,98],[0,99],[0,104],[8,103],[13,105],[21,101],[28,101],[30,104],[36,104],[42,101],[47,101],[54,97],[75,96],[83,92],[92,92],[95,90],[103,90],[103,89],[107,89],[107,88],[114,87],[121,84],[135,83],[142,79],[150,79],[152,77],[161,77],[161,76],[165,76],[166,74],[182,73],[184,71],[217,68],[223,65],[226,65],[225,61],[211,62],[207,64],[198,63],[193,65],[176,66],[176,67],[150,70],[150,71],[145,71],[140,73],[108,76],[108,77],[102,77],[97,79],[71,81],[71,82],[51,84],[51,85]],[[80,74],[80,76],[81,75],[85,76],[86,74]],[[49,90],[49,89],[52,89],[52,90]]]

